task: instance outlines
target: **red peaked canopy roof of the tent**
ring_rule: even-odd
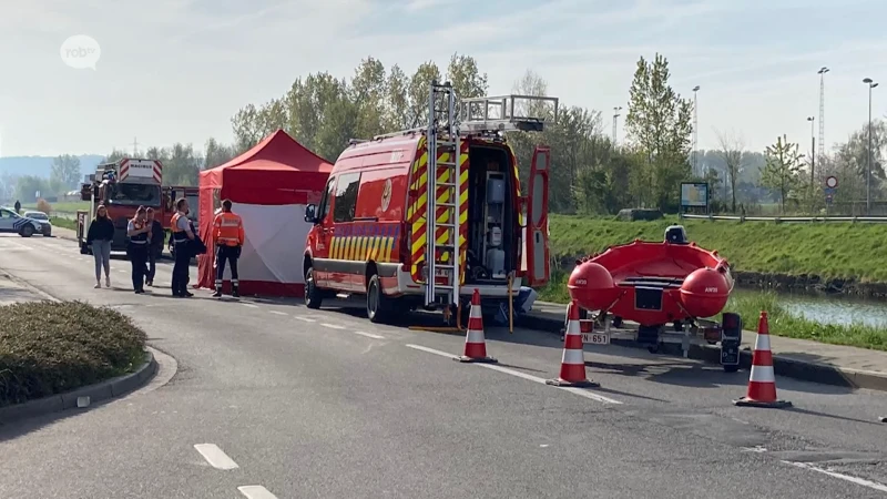
[[[249,151],[201,172],[201,191],[221,189],[220,197],[248,204],[307,204],[323,192],[333,165],[283,130]],[[203,211],[203,210],[201,210]],[[201,217],[201,220],[204,220]]]

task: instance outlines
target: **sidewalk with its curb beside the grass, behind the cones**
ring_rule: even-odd
[[[567,314],[564,305],[536,302],[528,322],[539,328],[560,332]],[[636,327],[626,323],[628,327]],[[744,330],[742,342],[743,368],[752,364],[756,333]],[[773,366],[777,375],[829,385],[887,391],[887,352],[827,345],[806,339],[771,336]],[[717,347],[693,348],[690,357],[718,363]]]

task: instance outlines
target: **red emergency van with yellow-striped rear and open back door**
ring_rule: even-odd
[[[432,83],[430,92],[431,99],[445,94],[455,109],[447,83]],[[304,253],[306,305],[364,295],[369,319],[378,323],[405,309],[453,312],[475,289],[485,307],[497,307],[521,285],[546,284],[550,151],[537,147],[523,196],[518,162],[502,132],[541,131],[544,120],[514,118],[518,99],[553,102],[557,116],[554,98],[468,99],[458,103],[461,121],[440,125],[434,115],[422,129],[353,141],[336,161],[319,204],[306,207],[305,220],[314,224]],[[497,105],[504,112],[490,118]],[[471,114],[477,106],[480,116]],[[437,196],[429,205],[431,172]],[[437,236],[430,246],[427,233]]]

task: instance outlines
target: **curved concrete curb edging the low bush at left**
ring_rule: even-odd
[[[156,374],[157,361],[154,359],[154,355],[151,352],[145,352],[145,363],[133,373],[64,394],[0,408],[0,424],[74,409],[78,407],[78,397],[89,397],[89,404],[92,406],[95,403],[125,395],[147,383]]]

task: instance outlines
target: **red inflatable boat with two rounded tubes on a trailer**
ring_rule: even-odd
[[[633,320],[643,329],[670,323],[680,328],[721,313],[733,277],[726,259],[687,243],[684,227],[675,225],[662,243],[635,240],[582,258],[568,288],[587,310]]]

